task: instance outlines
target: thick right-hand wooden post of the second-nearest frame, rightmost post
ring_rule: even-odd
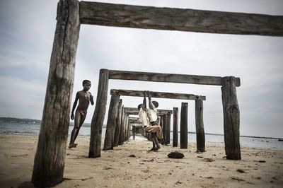
[[[241,160],[240,110],[238,107],[235,77],[226,76],[222,78],[221,91],[226,158]]]

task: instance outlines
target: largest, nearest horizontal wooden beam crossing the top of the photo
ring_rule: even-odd
[[[283,16],[80,2],[82,24],[201,33],[283,36]]]

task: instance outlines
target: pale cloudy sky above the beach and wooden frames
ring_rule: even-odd
[[[0,117],[41,119],[56,26],[55,0],[0,1]],[[283,15],[281,0],[100,0],[117,4]],[[224,35],[81,25],[74,92],[92,82],[96,100],[100,69],[203,76],[236,76],[240,134],[283,137],[283,37]],[[110,80],[110,89],[205,95],[204,131],[223,134],[220,86]],[[121,97],[125,107],[142,98]],[[195,131],[195,101],[156,99],[160,109],[188,102]],[[110,95],[108,95],[108,107]],[[72,105],[71,104],[71,105]],[[88,107],[91,122],[94,106]],[[108,112],[108,108],[107,108]],[[107,112],[105,123],[107,121]],[[172,118],[173,119],[173,118]]]

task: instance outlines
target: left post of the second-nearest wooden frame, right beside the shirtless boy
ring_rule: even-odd
[[[100,69],[96,109],[91,119],[91,142],[89,143],[88,158],[98,158],[101,155],[101,134],[106,111],[108,78],[108,69]]]

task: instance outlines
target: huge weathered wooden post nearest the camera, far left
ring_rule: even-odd
[[[45,105],[33,165],[32,182],[36,187],[52,187],[63,181],[79,30],[79,1],[59,1]]]

